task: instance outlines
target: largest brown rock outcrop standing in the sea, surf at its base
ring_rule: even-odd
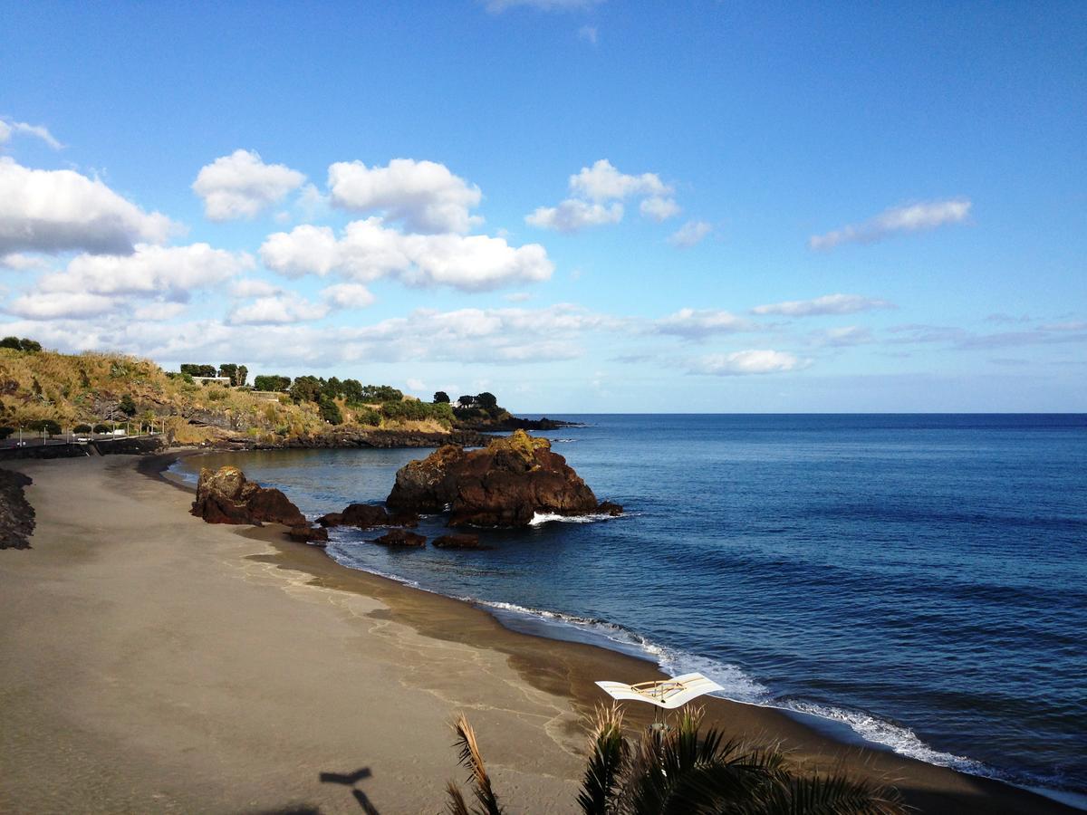
[[[524,430],[495,439],[483,450],[447,444],[397,472],[386,500],[395,512],[449,510],[450,526],[528,526],[536,513],[617,514],[601,507],[588,485],[551,452],[547,439]]]

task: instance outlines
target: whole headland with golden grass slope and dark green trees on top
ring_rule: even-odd
[[[433,401],[359,379],[260,374],[237,363],[186,363],[165,372],[148,360],[86,351],[61,354],[34,340],[0,341],[0,438],[15,429],[104,432],[116,423],[154,427],[172,441],[275,446],[334,428],[449,432],[501,429],[514,417],[491,393],[442,392]]]

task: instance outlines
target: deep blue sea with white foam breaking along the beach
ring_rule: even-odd
[[[1087,793],[1087,416],[562,418],[587,426],[542,435],[624,516],[485,531],[486,552],[340,529],[328,553],[903,754]],[[178,466],[238,464],[315,516],[383,501],[426,452]]]

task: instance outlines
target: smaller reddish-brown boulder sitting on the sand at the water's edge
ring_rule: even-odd
[[[248,480],[237,467],[200,471],[192,514],[209,524],[308,526],[305,516],[277,489]]]

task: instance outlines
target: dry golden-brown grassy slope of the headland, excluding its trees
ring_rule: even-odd
[[[123,409],[133,406],[129,417]],[[348,426],[447,429],[435,419],[411,417],[411,411],[389,410],[386,416],[382,405],[349,406],[338,400],[338,406]],[[77,424],[129,418],[165,419],[178,443],[239,435],[272,442],[330,429],[314,402],[296,404],[285,393],[276,398],[218,385],[204,387],[123,354],[0,348],[0,426],[53,419],[67,430]]]

